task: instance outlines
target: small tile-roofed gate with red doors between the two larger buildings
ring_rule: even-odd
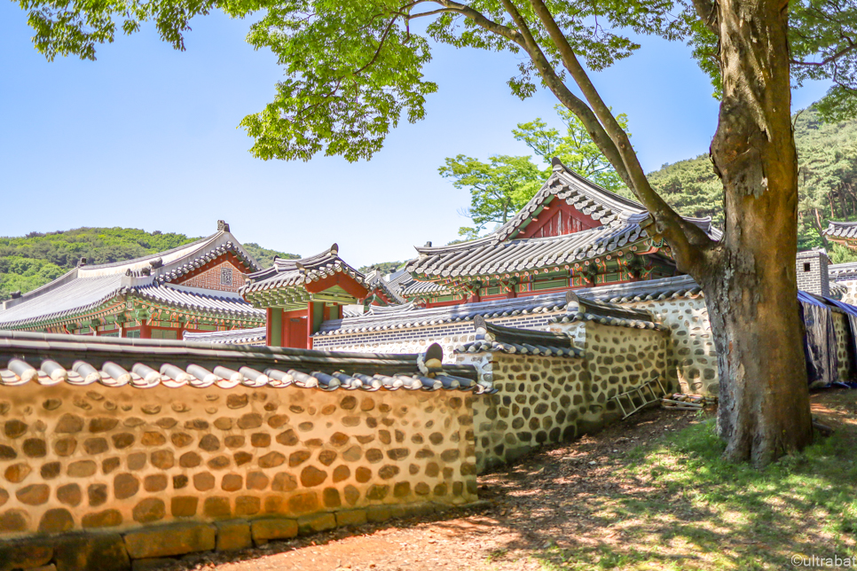
[[[366,277],[342,261],[336,244],[308,258],[275,260],[240,288],[244,299],[267,312],[267,344],[291,348],[312,348],[311,335],[322,322],[342,318],[345,306],[362,303],[369,291]]]

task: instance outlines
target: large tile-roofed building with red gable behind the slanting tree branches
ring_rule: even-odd
[[[688,218],[713,239],[711,218]],[[406,301],[422,307],[512,299],[678,275],[670,247],[647,231],[641,204],[609,192],[554,159],[541,190],[488,236],[417,247]]]

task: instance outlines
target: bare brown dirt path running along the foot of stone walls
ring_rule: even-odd
[[[813,413],[828,426],[857,423],[855,391],[813,397]],[[192,555],[164,569],[217,571],[524,571],[544,569],[533,557],[555,548],[622,541],[620,525],[593,517],[588,503],[646,494],[611,477],[640,444],[700,422],[693,411],[649,409],[599,434],[539,450],[502,472],[479,477],[483,505],[411,520],[340,528],[260,549]],[[639,487],[638,487],[639,488]],[[668,556],[672,557],[672,556]],[[677,565],[684,555],[675,556]]]

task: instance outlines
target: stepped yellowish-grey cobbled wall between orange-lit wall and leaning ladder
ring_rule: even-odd
[[[459,356],[490,373],[498,389],[474,403],[478,472],[591,432],[620,415],[611,397],[655,377],[664,382],[666,332],[589,322],[578,337],[584,357]]]

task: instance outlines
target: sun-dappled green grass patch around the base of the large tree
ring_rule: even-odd
[[[845,426],[763,470],[720,456],[713,420],[632,450],[622,492],[586,498],[592,534],[539,553],[546,569],[786,569],[857,556],[857,434]]]

